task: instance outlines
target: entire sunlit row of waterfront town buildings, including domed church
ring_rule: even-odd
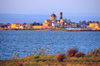
[[[100,29],[100,22],[92,21],[82,21],[79,23],[71,22],[70,19],[63,19],[63,13],[59,13],[59,20],[57,20],[56,15],[53,13],[50,19],[46,19],[43,23],[11,23],[2,24],[0,23],[0,28],[8,29],[48,29],[48,28],[95,28]]]

